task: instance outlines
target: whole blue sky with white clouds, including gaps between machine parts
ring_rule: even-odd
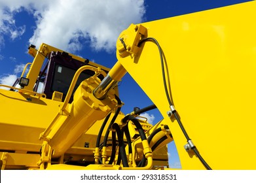
[[[223,7],[246,1],[215,0],[0,0],[0,83],[12,84],[24,65],[31,62],[27,47],[41,42],[72,52],[112,67],[115,41],[128,25],[149,22],[181,14]],[[133,107],[146,107],[151,101],[129,75],[120,82],[120,98],[125,103],[122,112]],[[130,90],[132,86],[133,90]],[[147,114],[153,124],[162,116],[157,110]],[[180,167],[174,143],[169,145],[170,165]]]

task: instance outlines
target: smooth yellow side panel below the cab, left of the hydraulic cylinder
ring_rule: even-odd
[[[59,110],[60,102],[0,89],[0,124],[45,128]]]

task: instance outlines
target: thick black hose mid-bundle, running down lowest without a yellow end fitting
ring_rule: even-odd
[[[128,160],[126,157],[125,147],[124,147],[123,132],[121,131],[118,124],[113,124],[112,127],[113,129],[116,130],[117,138],[119,139],[119,152],[120,152],[119,155],[120,155],[120,158],[122,159],[122,165],[124,167],[129,167]]]

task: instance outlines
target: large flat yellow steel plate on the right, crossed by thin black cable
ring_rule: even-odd
[[[255,9],[252,1],[142,24],[162,48],[175,108],[212,169],[256,168]],[[145,42],[137,57],[117,58],[169,121],[182,168],[205,169],[185,151],[187,140],[166,114],[156,44]]]

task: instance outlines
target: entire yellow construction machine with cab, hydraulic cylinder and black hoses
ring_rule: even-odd
[[[1,169],[172,169],[172,141],[182,169],[255,169],[255,9],[251,1],[132,24],[112,69],[29,46],[27,75],[0,89]],[[153,105],[121,112],[126,73]],[[158,123],[138,118],[153,108]]]

